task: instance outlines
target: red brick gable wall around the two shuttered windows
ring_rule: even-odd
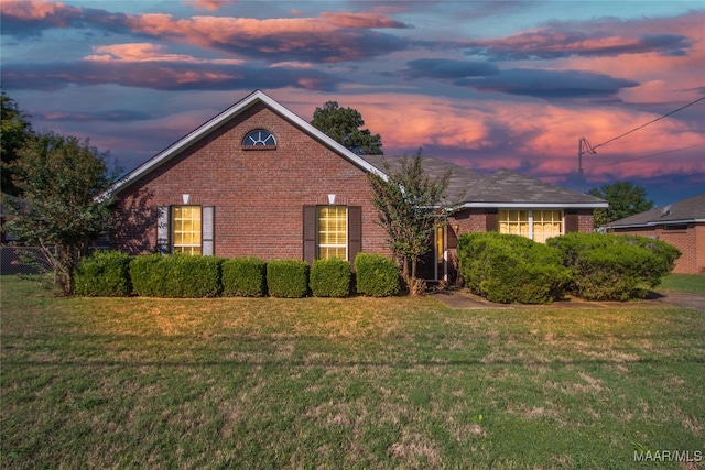
[[[276,149],[243,150],[254,129],[271,132]],[[328,204],[328,194],[362,207],[362,251],[388,253],[366,173],[261,103],[122,190],[117,248],[154,251],[156,207],[182,204],[183,194],[215,207],[219,256],[302,259],[303,206]]]

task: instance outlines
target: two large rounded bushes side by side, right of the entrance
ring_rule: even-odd
[[[498,303],[546,304],[573,294],[588,300],[642,298],[681,252],[646,237],[568,233],[546,244],[497,232],[458,241],[468,288]]]

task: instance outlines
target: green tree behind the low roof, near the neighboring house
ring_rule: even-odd
[[[595,209],[595,227],[653,209],[653,201],[647,198],[647,190],[631,182],[605,184],[587,194],[609,203],[607,209]]]

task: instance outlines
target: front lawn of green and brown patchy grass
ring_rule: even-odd
[[[1,287],[3,469],[703,464],[703,311]]]

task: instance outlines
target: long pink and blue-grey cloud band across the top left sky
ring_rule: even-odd
[[[7,6],[6,6],[7,3]],[[311,18],[235,18],[166,13],[127,14],[37,1],[3,3],[3,33],[40,35],[52,28],[98,28],[275,61],[339,62],[406,48],[400,37],[378,29],[408,28],[375,12],[322,12]],[[213,11],[223,1],[195,0]]]

